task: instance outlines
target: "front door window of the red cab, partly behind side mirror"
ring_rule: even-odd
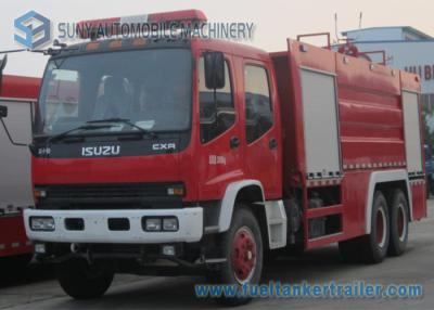
[[[201,117],[201,141],[206,143],[224,133],[235,122],[231,79],[228,63],[225,63],[225,88],[213,89],[205,86],[205,65],[199,62],[199,102]]]

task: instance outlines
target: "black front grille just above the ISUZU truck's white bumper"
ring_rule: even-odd
[[[182,198],[169,196],[167,188],[181,183],[36,185],[46,191],[39,209],[174,208]]]

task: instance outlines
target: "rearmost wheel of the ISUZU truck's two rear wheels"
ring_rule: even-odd
[[[408,203],[401,190],[395,190],[391,206],[391,242],[388,254],[399,256],[406,251],[408,240]]]

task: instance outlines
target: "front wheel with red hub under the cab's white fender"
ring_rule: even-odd
[[[231,225],[221,235],[219,244],[227,261],[213,274],[213,282],[239,285],[239,289],[244,283],[259,284],[264,263],[263,238],[259,223],[248,207],[235,206]],[[219,298],[226,306],[245,305],[250,300],[248,297]]]

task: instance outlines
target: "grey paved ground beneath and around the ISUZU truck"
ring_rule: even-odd
[[[385,299],[257,299],[239,309],[433,309],[434,307],[434,201],[429,219],[411,224],[408,253],[375,266],[344,264],[336,246],[307,253],[302,259],[279,259],[265,271],[265,280],[311,283],[365,280],[382,284],[419,283],[424,297]],[[200,277],[117,276],[98,300],[75,301],[65,296],[48,267],[30,266],[22,274],[0,274],[0,309],[215,309],[212,300],[199,300],[193,287]]]

